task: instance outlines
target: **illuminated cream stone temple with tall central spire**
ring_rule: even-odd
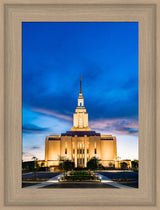
[[[92,157],[101,160],[104,167],[115,165],[117,160],[116,137],[101,135],[88,126],[88,113],[84,107],[80,77],[78,106],[73,114],[73,127],[61,135],[50,135],[45,140],[45,163],[57,167],[63,157],[75,162],[75,167],[87,167]]]

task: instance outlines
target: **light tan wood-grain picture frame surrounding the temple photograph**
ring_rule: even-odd
[[[24,208],[22,206],[26,209],[159,209],[159,129],[156,128],[160,122],[160,2],[125,3],[121,0],[114,3],[109,0],[76,3],[67,0],[60,3],[56,0],[35,0],[23,1],[23,4],[16,0],[1,1],[2,209]],[[138,188],[22,188],[22,22],[138,22]],[[83,107],[81,97],[79,103]]]

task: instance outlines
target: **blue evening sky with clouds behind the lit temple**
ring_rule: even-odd
[[[22,23],[23,160],[70,130],[82,75],[89,126],[138,158],[138,23]]]

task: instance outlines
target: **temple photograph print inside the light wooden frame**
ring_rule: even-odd
[[[138,188],[138,23],[22,23],[22,187]]]

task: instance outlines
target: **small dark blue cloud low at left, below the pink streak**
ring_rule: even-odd
[[[49,131],[49,128],[41,128],[33,124],[26,124],[22,126],[22,132],[27,134],[46,133],[47,131]]]

